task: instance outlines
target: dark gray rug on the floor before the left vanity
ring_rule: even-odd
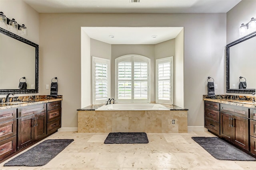
[[[74,139],[48,139],[6,162],[4,166],[43,166]]]

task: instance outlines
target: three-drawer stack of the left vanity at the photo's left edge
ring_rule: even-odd
[[[0,111],[0,160],[16,151],[17,110]]]

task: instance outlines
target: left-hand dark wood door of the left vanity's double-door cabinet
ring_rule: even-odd
[[[34,115],[18,119],[18,149],[30,145],[34,140]]]

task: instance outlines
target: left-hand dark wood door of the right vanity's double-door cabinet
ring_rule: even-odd
[[[228,141],[232,141],[231,118],[230,114],[220,113],[220,135]]]

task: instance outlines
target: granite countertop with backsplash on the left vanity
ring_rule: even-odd
[[[50,96],[50,95],[38,95],[38,96],[18,96],[10,97],[10,102],[0,103],[0,110],[12,109],[16,107],[31,106],[35,104],[43,104],[48,102],[61,101],[62,95]],[[5,99],[3,99],[5,101]]]

